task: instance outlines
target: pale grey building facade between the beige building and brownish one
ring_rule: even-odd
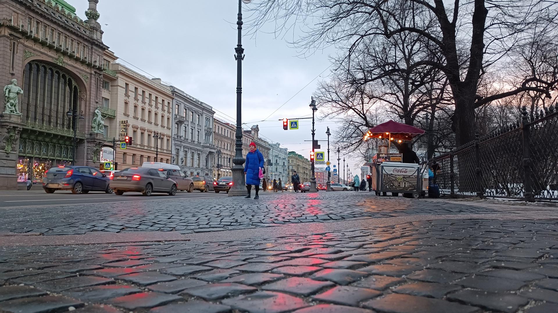
[[[213,177],[217,149],[213,134],[213,108],[175,86],[168,86],[172,105],[172,164],[189,176]]]

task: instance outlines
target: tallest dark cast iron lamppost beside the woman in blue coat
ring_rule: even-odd
[[[244,48],[242,47],[242,3],[250,3],[252,0],[238,0],[238,44],[234,48],[237,60],[237,131],[235,152],[233,158],[233,187],[229,190],[229,197],[235,195],[246,195],[246,177],[244,176],[244,158],[242,157],[242,60],[244,60]]]

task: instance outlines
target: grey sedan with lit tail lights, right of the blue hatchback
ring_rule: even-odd
[[[114,193],[141,192],[151,195],[153,192],[176,194],[177,184],[170,176],[155,168],[125,168],[114,174],[112,179]]]

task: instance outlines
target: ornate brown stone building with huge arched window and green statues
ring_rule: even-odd
[[[55,165],[95,164],[104,142],[103,116],[95,111],[110,60],[98,0],[88,2],[82,21],[62,0],[0,0],[0,82],[15,79],[22,89],[20,114],[2,101],[0,189],[16,189],[28,177],[40,182]]]

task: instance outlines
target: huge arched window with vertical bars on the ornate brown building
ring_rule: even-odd
[[[67,111],[79,109],[76,81],[57,67],[31,61],[23,72],[21,113],[30,123],[71,129]]]

